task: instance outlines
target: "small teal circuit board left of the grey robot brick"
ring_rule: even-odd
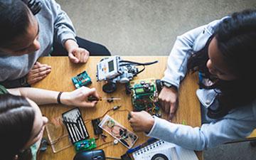
[[[79,75],[72,78],[72,82],[75,85],[76,88],[80,88],[82,86],[87,86],[92,83],[91,78],[87,74],[86,71],[83,71]]]

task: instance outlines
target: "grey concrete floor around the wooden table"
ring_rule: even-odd
[[[114,55],[169,55],[176,36],[234,11],[256,9],[255,0],[56,0],[78,36],[102,43]],[[204,151],[204,159],[256,159],[248,142]]]

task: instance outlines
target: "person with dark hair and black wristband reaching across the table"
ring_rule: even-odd
[[[95,107],[99,97],[95,88],[80,87],[73,92],[55,92],[33,87],[7,89],[0,85],[1,159],[35,159],[43,130],[48,122],[38,105],[60,103],[77,107]],[[38,105],[36,105],[36,103]]]

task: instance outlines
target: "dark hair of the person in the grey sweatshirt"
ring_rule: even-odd
[[[0,0],[0,48],[8,48],[11,41],[26,33],[29,13],[21,0]]]

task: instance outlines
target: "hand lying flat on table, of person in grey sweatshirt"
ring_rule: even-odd
[[[26,80],[29,85],[33,85],[34,83],[43,80],[43,78],[46,78],[50,71],[50,65],[36,62],[35,65],[33,65],[33,68],[29,71],[28,75],[26,76]]]

